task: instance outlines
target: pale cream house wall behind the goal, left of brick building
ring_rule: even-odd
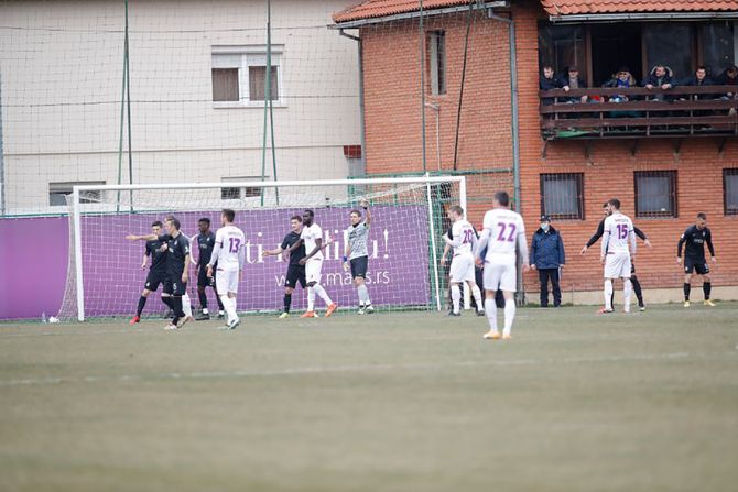
[[[272,1],[279,179],[357,172],[358,48],[327,29],[349,3]],[[132,0],[129,22],[133,182],[260,178],[267,0]],[[122,0],[0,3],[6,215],[64,211],[76,183],[129,182],[123,28]]]

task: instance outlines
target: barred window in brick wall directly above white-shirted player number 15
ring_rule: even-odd
[[[676,217],[676,171],[634,173],[636,217]]]

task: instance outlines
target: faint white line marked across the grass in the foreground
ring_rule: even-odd
[[[664,360],[684,360],[690,358],[707,357],[715,359],[716,356],[729,356],[738,360],[735,352],[725,352],[720,354],[709,353],[643,353],[638,356],[606,356],[606,357],[575,357],[564,359],[517,359],[517,360],[490,360],[490,361],[465,361],[452,363],[419,363],[419,364],[371,364],[371,365],[336,365],[333,368],[293,368],[276,369],[265,371],[206,371],[206,372],[169,372],[161,374],[124,374],[119,376],[79,376],[79,378],[30,378],[0,381],[0,386],[23,386],[23,385],[55,385],[63,383],[130,383],[149,382],[166,380],[203,380],[203,379],[238,379],[238,378],[271,378],[290,376],[307,374],[332,374],[350,372],[373,372],[373,371],[398,371],[398,370],[428,370],[443,368],[473,368],[473,367],[514,367],[514,365],[546,365],[546,364],[577,364],[577,363],[599,363],[599,362],[632,362],[632,361],[664,361]]]

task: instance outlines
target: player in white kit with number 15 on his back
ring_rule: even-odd
[[[600,255],[605,264],[604,313],[612,313],[612,282],[616,278],[622,278],[625,311],[630,313],[630,261],[636,256],[636,232],[632,220],[620,214],[620,200],[612,198],[608,205],[612,214],[605,219]]]

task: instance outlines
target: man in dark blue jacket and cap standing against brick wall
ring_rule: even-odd
[[[549,280],[554,295],[554,307],[561,306],[558,269],[566,262],[564,241],[558,231],[551,227],[547,216],[541,217],[541,228],[533,234],[530,255],[531,269],[539,271],[541,281],[541,307],[549,307]]]

